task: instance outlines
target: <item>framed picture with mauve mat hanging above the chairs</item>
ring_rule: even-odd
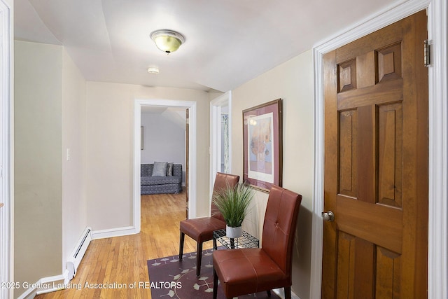
[[[281,99],[243,111],[243,181],[253,188],[281,186],[282,124]]]

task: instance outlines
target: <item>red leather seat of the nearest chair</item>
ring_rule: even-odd
[[[228,298],[291,285],[286,274],[262,249],[216,250],[213,260]]]

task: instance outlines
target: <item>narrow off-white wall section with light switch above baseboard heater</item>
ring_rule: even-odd
[[[87,226],[85,197],[85,79],[63,52],[62,267]],[[67,160],[69,149],[69,160]]]

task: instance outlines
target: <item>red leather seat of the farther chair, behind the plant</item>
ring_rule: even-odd
[[[195,239],[196,242],[206,242],[213,239],[215,230],[223,230],[225,222],[215,217],[200,217],[181,221],[180,230]]]

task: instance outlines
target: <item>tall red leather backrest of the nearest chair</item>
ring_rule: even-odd
[[[302,195],[273,185],[263,223],[262,249],[291,277],[295,225]]]

